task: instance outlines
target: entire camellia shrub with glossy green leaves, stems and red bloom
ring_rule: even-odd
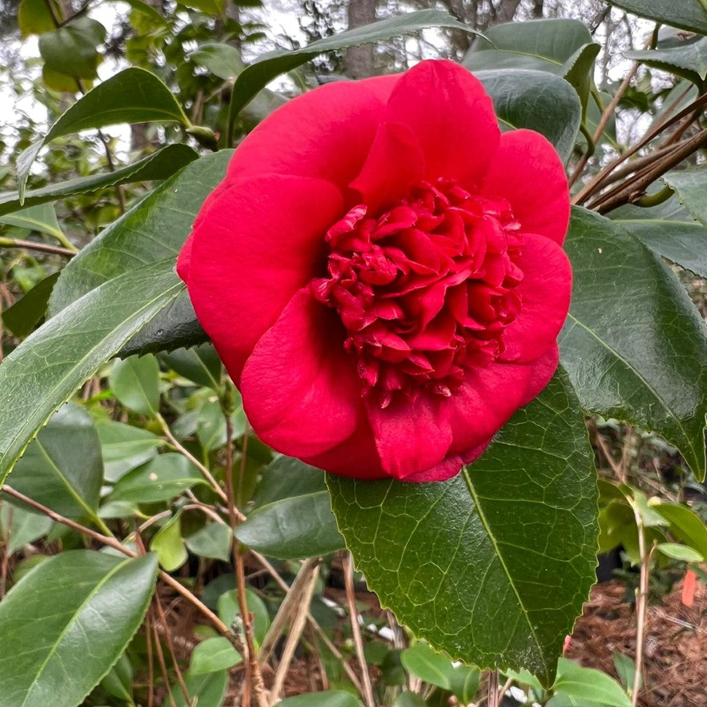
[[[218,707],[242,663],[238,703],[273,704],[281,683],[264,686],[262,672],[287,612],[305,607],[296,643],[319,558],[344,548],[412,636],[569,700],[588,678],[567,661],[558,677],[558,662],[597,549],[613,547],[604,510],[635,511],[646,567],[650,539],[703,558],[688,508],[606,481],[600,498],[585,424],[640,426],[704,477],[707,334],[679,274],[707,276],[707,13],[618,4],[665,27],[607,92],[578,21],[479,35],[424,10],[245,68],[234,47],[204,41],[189,61],[213,95],[230,90],[198,121],[149,66],[129,66],[23,146],[4,223],[51,236],[50,204],[134,191],[77,252],[45,247],[69,262],[4,312],[17,341],[0,365],[3,508],[37,529],[25,542],[64,545],[0,600],[0,707],[74,707],[99,683],[120,697],[126,648],[160,644],[160,588],[206,639],[183,679],[163,676],[162,703]],[[95,78],[54,62],[93,22],[28,30],[50,88]],[[461,64],[429,59],[290,100],[265,88],[322,52],[429,27],[475,35]],[[668,88],[629,140],[617,107],[644,66]],[[30,183],[45,146],[144,122],[165,126],[165,144],[141,160]],[[102,407],[110,396],[118,412]],[[0,525],[22,537],[12,518]],[[246,585],[248,552],[266,568],[303,560],[272,631]],[[232,563],[235,591],[209,598],[194,558]],[[441,686],[457,704],[474,698]],[[600,695],[630,704],[613,682]]]

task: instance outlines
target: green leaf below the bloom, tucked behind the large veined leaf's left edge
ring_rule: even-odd
[[[235,537],[251,549],[283,560],[326,555],[344,547],[327,491],[260,506],[238,525]]]

